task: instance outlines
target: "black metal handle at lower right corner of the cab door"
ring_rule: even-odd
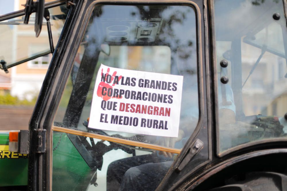
[[[199,139],[195,139],[195,141],[191,144],[191,148],[188,153],[179,163],[179,165],[175,168],[176,172],[180,172],[187,165],[187,163],[203,148],[203,142]]]

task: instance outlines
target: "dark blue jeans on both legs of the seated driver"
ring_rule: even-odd
[[[114,161],[108,166],[107,191],[155,190],[172,163],[156,153]]]

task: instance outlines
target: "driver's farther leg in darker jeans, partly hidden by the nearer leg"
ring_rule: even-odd
[[[107,170],[107,191],[118,190],[121,180],[125,172],[131,167],[146,163],[162,162],[163,159],[157,157],[156,153],[150,155],[133,156],[125,159],[120,159],[110,163]]]

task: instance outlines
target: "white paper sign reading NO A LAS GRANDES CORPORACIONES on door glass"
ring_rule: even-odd
[[[101,65],[88,127],[177,137],[183,76]]]

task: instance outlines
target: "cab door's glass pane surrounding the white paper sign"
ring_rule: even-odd
[[[91,171],[97,173],[96,189],[140,190],[142,185],[147,185],[148,190],[156,188],[180,152],[179,149],[189,139],[199,118],[196,44],[195,11],[192,7],[98,5],[94,8],[63,92],[54,126],[160,147],[147,149],[143,146],[119,145],[112,141],[54,131],[53,188],[61,186],[57,180],[71,180],[68,172],[60,171],[62,165],[56,159],[60,148],[65,147],[60,139],[73,143],[87,165],[93,166]],[[101,64],[154,75],[183,76],[177,137],[88,128]],[[161,146],[175,152],[162,151]],[[154,173],[147,172],[147,169],[153,169]],[[73,173],[77,173],[77,170]],[[138,176],[141,173],[149,175],[142,179],[142,176]],[[79,182],[77,180],[74,184],[84,186],[83,181]]]

